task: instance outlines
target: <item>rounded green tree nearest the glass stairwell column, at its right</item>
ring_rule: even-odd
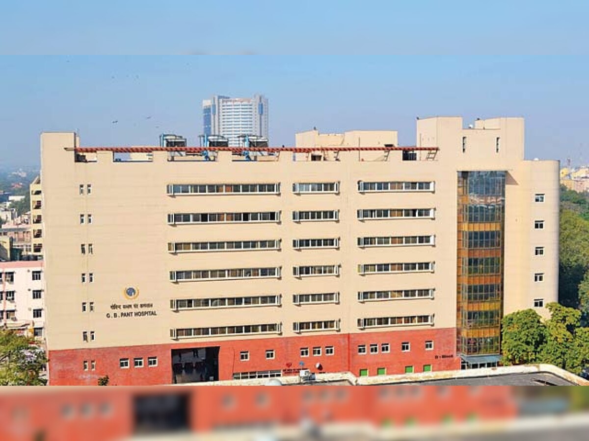
[[[547,332],[540,315],[533,309],[525,309],[506,315],[501,324],[502,363],[506,366],[537,363]]]

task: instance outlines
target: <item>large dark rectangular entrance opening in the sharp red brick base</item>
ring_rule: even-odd
[[[172,383],[219,380],[219,346],[172,349]]]

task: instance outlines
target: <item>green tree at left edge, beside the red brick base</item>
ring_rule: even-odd
[[[40,377],[45,363],[45,351],[34,340],[0,330],[0,386],[45,385]]]

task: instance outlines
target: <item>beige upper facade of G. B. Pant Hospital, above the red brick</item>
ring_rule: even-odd
[[[419,119],[409,149],[397,147],[394,131],[312,131],[296,142],[300,149],[250,158],[210,149],[206,161],[197,149],[81,148],[74,133],[43,133],[49,350],[200,345],[229,338],[223,332],[257,339],[454,329],[461,171],[507,172],[504,312],[557,300],[558,162],[524,160],[523,119],[467,129],[461,118]],[[118,152],[153,154],[117,161]],[[214,192],[183,193],[199,185]],[[305,219],[316,216],[328,219]],[[375,292],[389,298],[370,299]],[[269,304],[215,306],[245,297]],[[211,300],[198,309],[171,302],[187,299]],[[323,302],[305,303],[313,299]],[[219,329],[262,324],[276,327]],[[330,329],[313,329],[322,326]],[[205,328],[210,335],[194,336]]]

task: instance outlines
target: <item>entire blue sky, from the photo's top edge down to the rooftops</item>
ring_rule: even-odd
[[[0,163],[38,163],[42,131],[196,143],[202,99],[253,93],[276,145],[313,126],[412,144],[416,116],[524,116],[528,157],[589,162],[589,2],[542,3],[13,2],[0,53],[66,55],[0,56]],[[101,55],[160,53],[176,55]]]

